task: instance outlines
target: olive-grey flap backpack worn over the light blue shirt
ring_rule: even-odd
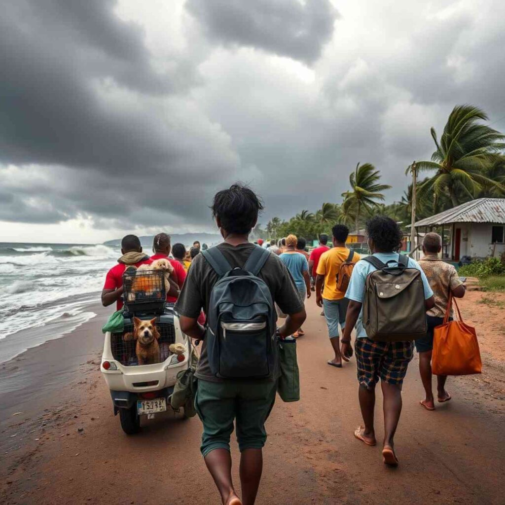
[[[409,258],[399,255],[389,266],[375,256],[364,261],[377,270],[367,276],[363,326],[368,338],[380,342],[415,340],[426,334],[426,309],[421,272],[409,268]]]

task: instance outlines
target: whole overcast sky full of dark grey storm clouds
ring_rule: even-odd
[[[339,202],[358,162],[399,199],[456,104],[505,130],[503,19],[493,0],[4,0],[0,241],[211,231],[235,180],[266,223]]]

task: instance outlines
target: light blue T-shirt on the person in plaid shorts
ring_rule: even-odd
[[[373,256],[379,259],[382,263],[387,263],[388,261],[394,261],[390,266],[394,267],[398,265],[398,253],[397,252],[376,252]],[[421,279],[423,281],[424,287],[424,298],[428,299],[433,296],[433,291],[431,290],[430,284],[426,275],[424,274],[422,268],[419,266],[418,262],[409,258],[408,263],[409,268],[417,268],[421,272]],[[365,297],[365,281],[370,272],[377,270],[368,261],[360,260],[352,270],[352,275],[350,277],[349,286],[347,287],[347,292],[345,297],[349,300],[359,301],[363,303],[363,298]],[[356,323],[356,337],[364,338],[367,336],[367,332],[363,326],[363,309],[360,312],[358,321]]]

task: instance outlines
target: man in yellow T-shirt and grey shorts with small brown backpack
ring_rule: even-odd
[[[336,224],[331,232],[333,247],[321,256],[317,266],[316,304],[318,307],[324,307],[328,336],[335,353],[335,357],[328,361],[328,365],[342,368],[338,325],[340,324],[343,332],[348,304],[345,291],[349,285],[352,269],[361,258],[359,254],[345,247],[349,234],[347,226]],[[344,360],[348,361],[345,357]]]

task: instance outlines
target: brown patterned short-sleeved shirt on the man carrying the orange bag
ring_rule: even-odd
[[[428,316],[444,317],[449,301],[449,291],[461,286],[463,282],[458,277],[456,269],[438,258],[436,254],[428,253],[419,261],[419,265],[426,274],[435,297],[435,307],[430,309],[427,314]],[[450,308],[450,316],[452,317],[452,307]]]

